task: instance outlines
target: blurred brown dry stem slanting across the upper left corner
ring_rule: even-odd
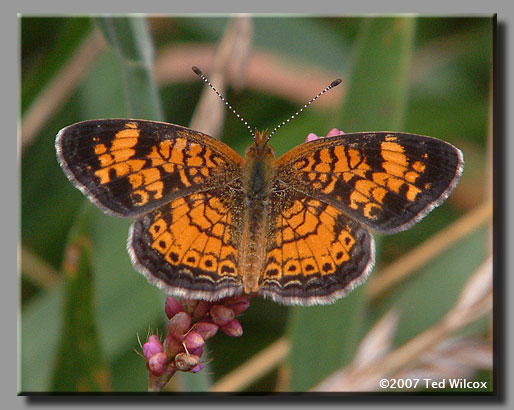
[[[93,30],[68,63],[36,97],[23,116],[21,123],[22,149],[30,144],[52,115],[65,103],[91,65],[105,49],[105,45],[105,40],[100,31]]]

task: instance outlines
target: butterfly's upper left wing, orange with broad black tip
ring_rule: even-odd
[[[124,217],[222,186],[242,163],[215,138],[145,120],[80,122],[62,129],[55,146],[68,179],[106,213]]]

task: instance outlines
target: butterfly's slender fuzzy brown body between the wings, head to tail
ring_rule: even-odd
[[[270,195],[275,179],[275,153],[267,140],[266,131],[256,131],[255,143],[246,151],[242,172],[244,204],[239,260],[246,293],[258,291],[265,261],[266,227],[269,226]]]

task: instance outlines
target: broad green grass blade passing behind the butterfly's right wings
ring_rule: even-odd
[[[364,22],[339,113],[345,132],[402,126],[414,26],[413,18]],[[364,332],[365,310],[362,288],[331,306],[292,309],[288,362],[292,391],[311,388],[352,359]]]

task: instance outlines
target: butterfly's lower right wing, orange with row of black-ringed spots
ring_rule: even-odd
[[[331,303],[374,265],[371,234],[339,209],[281,186],[259,293],[287,305]]]

